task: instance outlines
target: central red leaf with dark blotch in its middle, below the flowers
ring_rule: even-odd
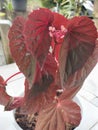
[[[39,66],[36,68],[35,80],[30,89],[28,81],[25,83],[25,102],[21,107],[21,112],[35,113],[40,111],[43,106],[52,102],[56,95],[56,90],[59,89],[55,85],[55,74],[57,63],[49,53],[44,63],[43,69]]]

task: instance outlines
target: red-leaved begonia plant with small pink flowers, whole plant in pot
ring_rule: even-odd
[[[97,63],[98,41],[93,21],[86,16],[66,19],[39,8],[27,19],[15,18],[8,37],[12,56],[25,76],[25,94],[8,95],[5,86],[13,76],[7,80],[1,76],[0,104],[6,111],[17,108],[16,120],[25,124],[26,130],[77,127],[81,109],[73,97]]]

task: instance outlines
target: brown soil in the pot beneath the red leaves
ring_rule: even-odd
[[[35,130],[37,116],[37,113],[35,115],[21,114],[19,108],[15,111],[15,120],[23,130]],[[75,130],[75,128],[69,126],[67,130]]]

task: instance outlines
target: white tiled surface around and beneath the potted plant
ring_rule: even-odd
[[[5,79],[18,72],[15,63],[0,67],[0,75]],[[98,64],[86,79],[82,89],[76,97],[82,110],[82,120],[75,130],[98,130]],[[24,91],[24,76],[18,75],[9,81],[7,91],[12,96],[18,96]],[[0,106],[0,130],[20,130],[14,127],[15,121],[12,118],[12,112],[4,112]],[[9,116],[11,118],[9,118]],[[12,121],[12,123],[11,123]],[[5,122],[6,125],[5,125]]]

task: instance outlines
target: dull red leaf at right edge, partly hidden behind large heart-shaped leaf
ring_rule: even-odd
[[[89,73],[92,71],[98,61],[98,40],[96,41],[95,49],[92,55],[87,59],[84,66],[75,73],[71,74],[65,82],[65,88],[70,89],[72,87],[81,88],[84,80],[87,78]]]

